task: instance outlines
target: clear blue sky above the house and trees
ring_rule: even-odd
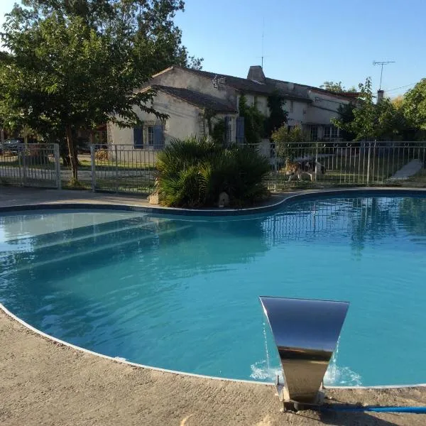
[[[0,23],[14,0],[0,0]],[[261,65],[266,77],[319,86],[380,82],[403,94],[426,77],[425,0],[185,0],[175,23],[203,70],[246,77]]]

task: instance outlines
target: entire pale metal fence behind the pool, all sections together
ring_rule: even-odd
[[[254,145],[271,163],[271,190],[293,187],[426,186],[426,142],[297,142]],[[158,151],[133,145],[92,145],[80,155],[78,179],[92,191],[149,194]],[[61,187],[70,169],[57,144],[0,144],[0,185]]]

